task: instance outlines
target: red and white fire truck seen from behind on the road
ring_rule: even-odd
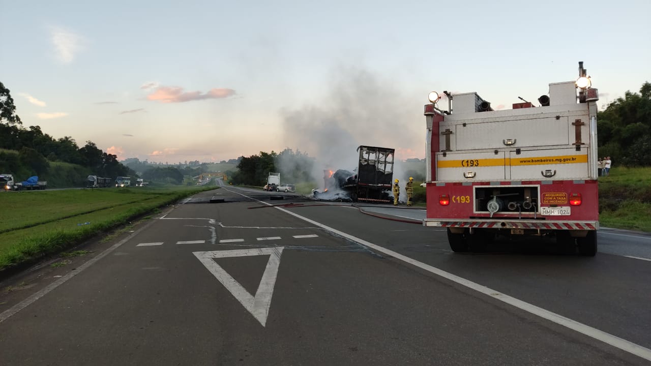
[[[531,235],[594,256],[599,96],[591,84],[579,62],[579,77],[549,84],[539,106],[518,97],[513,109],[493,110],[476,92],[444,91],[441,109],[430,92],[423,225],[447,228],[455,252]]]

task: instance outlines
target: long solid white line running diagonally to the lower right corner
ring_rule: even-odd
[[[243,195],[242,193],[238,192],[233,192],[237,193],[239,195]],[[267,204],[268,206],[273,206],[270,203],[266,203],[264,201],[260,201],[251,197],[248,197],[246,195],[243,195],[244,197],[247,197],[249,199],[253,199],[254,201],[258,201],[264,204]],[[426,270],[427,272],[430,272],[432,274],[439,275],[445,279],[449,279],[450,281],[456,282],[460,285],[463,285],[469,289],[476,290],[477,292],[481,292],[482,294],[486,294],[496,300],[499,300],[501,302],[508,303],[509,305],[512,305],[514,307],[517,307],[518,309],[527,311],[527,313],[531,313],[533,315],[537,315],[538,317],[547,319],[551,322],[554,322],[556,324],[559,324],[561,326],[564,326],[566,328],[569,328],[571,330],[577,331],[583,335],[587,335],[588,337],[592,337],[594,339],[597,339],[599,341],[602,341],[603,343],[607,343],[608,345],[611,345],[613,347],[619,348],[620,350],[624,350],[626,352],[629,352],[630,354],[634,354],[635,356],[639,356],[641,358],[646,359],[647,361],[651,361],[651,350],[649,348],[645,348],[640,345],[636,345],[635,343],[632,343],[630,341],[626,341],[626,339],[622,339],[620,337],[617,337],[615,335],[612,335],[610,333],[606,333],[605,331],[598,330],[596,328],[592,328],[591,326],[588,326],[583,323],[579,323],[575,320],[572,320],[570,318],[563,317],[562,315],[558,315],[556,313],[552,313],[551,311],[548,311],[546,309],[542,309],[542,307],[537,307],[536,305],[533,305],[531,303],[523,302],[522,300],[518,300],[512,296],[508,296],[506,294],[503,294],[501,292],[497,292],[493,289],[490,289],[489,287],[486,287],[484,285],[479,285],[478,283],[475,283],[473,281],[469,281],[468,279],[465,279],[463,277],[459,277],[458,275],[451,274],[450,272],[445,272],[444,270],[441,270],[439,268],[436,268],[434,266],[430,266],[429,264],[425,264],[422,262],[419,262],[418,260],[411,259],[407,257],[406,255],[402,255],[400,253],[397,253],[393,250],[386,249],[385,247],[378,246],[376,244],[373,244],[371,242],[367,242],[366,240],[363,240],[361,238],[357,238],[356,236],[352,236],[350,234],[347,234],[346,232],[339,231],[337,229],[333,229],[332,227],[329,227],[327,225],[324,225],[322,223],[319,223],[317,221],[314,221],[309,218],[305,218],[303,216],[300,216],[299,214],[295,214],[294,212],[285,210],[284,208],[275,206],[274,208],[277,208],[278,210],[281,210],[285,212],[286,214],[290,214],[294,216],[295,218],[302,219],[304,221],[307,221],[311,223],[312,225],[316,225],[326,231],[333,232],[337,235],[343,236],[344,238],[347,238],[348,240],[352,240],[353,242],[357,242],[363,246],[370,247],[372,249],[375,249],[376,251],[379,251],[380,253],[384,253],[386,255],[390,255],[391,257],[394,257],[395,259],[402,260],[404,262],[407,262],[411,264],[412,266],[416,266],[418,268],[421,268],[422,270]]]

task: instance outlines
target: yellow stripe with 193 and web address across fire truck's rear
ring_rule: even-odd
[[[439,158],[440,159],[440,158]],[[504,165],[549,165],[587,163],[587,155],[533,156],[531,158],[439,160],[439,168],[499,167]]]

